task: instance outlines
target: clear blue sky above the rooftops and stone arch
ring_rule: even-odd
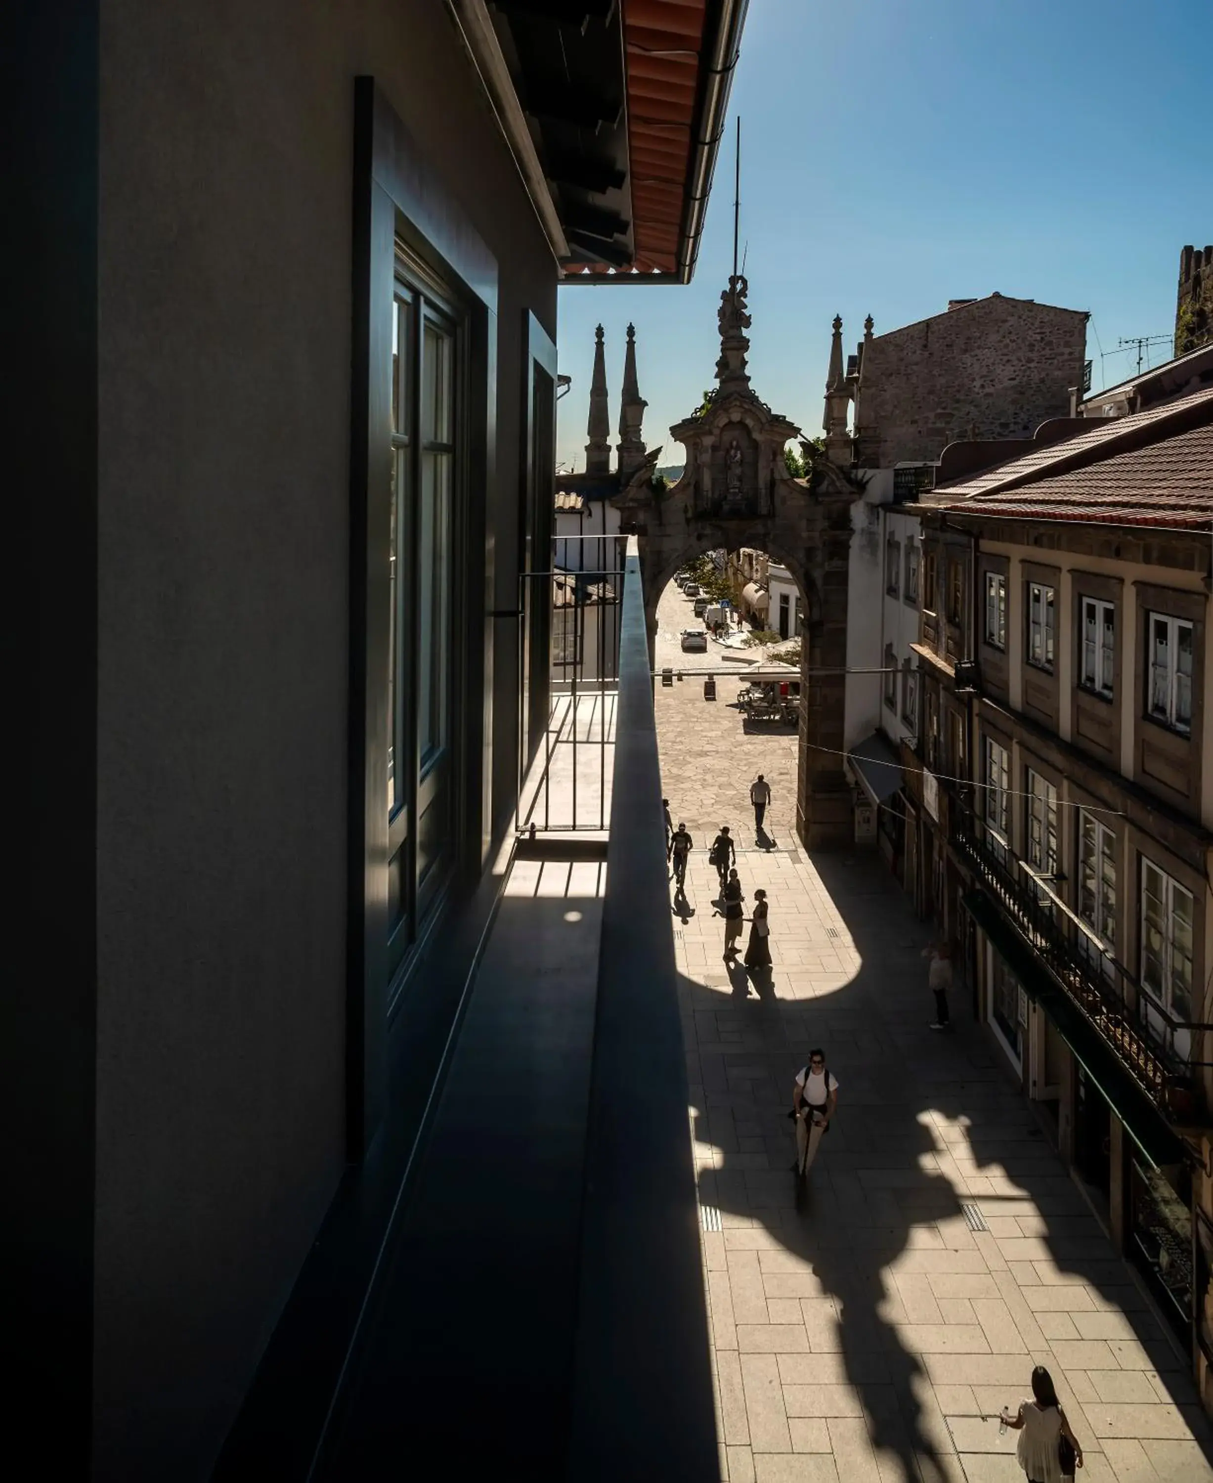
[[[559,292],[558,455],[584,467],[593,329],[606,329],[611,429],[636,325],[645,439],[712,386],[733,254],[741,116],[750,372],[820,432],[830,320],[854,350],[998,289],[1087,308],[1094,387],[1120,335],[1174,326],[1179,249],[1213,240],[1213,0],[750,0],[694,282]],[[1154,362],[1170,354],[1152,350]]]

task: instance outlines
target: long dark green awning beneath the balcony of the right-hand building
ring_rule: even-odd
[[[989,939],[991,946],[1007,964],[1028,997],[1045,1011],[1057,1026],[1087,1078],[1103,1096],[1108,1106],[1124,1124],[1126,1133],[1151,1164],[1177,1164],[1185,1148],[1160,1109],[1134,1077],[1121,1065],[1094,1025],[1071,1003],[1041,967],[1037,955],[1001,915],[985,891],[970,891],[961,905]]]

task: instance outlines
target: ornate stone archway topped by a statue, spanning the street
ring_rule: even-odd
[[[655,489],[660,448],[654,449],[615,503],[623,529],[639,535],[650,653],[661,592],[701,552],[752,546],[776,556],[796,578],[805,612],[796,830],[807,848],[842,847],[853,842],[851,789],[842,768],[847,569],[851,506],[863,489],[807,443],[801,446],[811,457],[810,476],[787,473],[783,449],[801,432],[750,386],[746,294],[744,277],[728,280],[721,295],[716,390],[670,429],[687,448],[682,478],[666,491]]]

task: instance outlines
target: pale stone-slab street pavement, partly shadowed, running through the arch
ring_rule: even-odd
[[[1163,1332],[965,1013],[937,1035],[925,927],[879,860],[796,845],[795,739],[749,736],[684,682],[657,690],[663,782],[700,847],[675,903],[703,1213],[721,1476],[731,1483],[1022,1483],[1001,1406],[1048,1366],[1087,1483],[1213,1480],[1186,1358]],[[746,753],[741,756],[740,753]],[[743,828],[774,967],[721,958],[718,823],[776,790],[777,848]],[[808,1183],[789,1172],[792,1077],[841,1084]],[[974,1228],[976,1226],[976,1228]]]

